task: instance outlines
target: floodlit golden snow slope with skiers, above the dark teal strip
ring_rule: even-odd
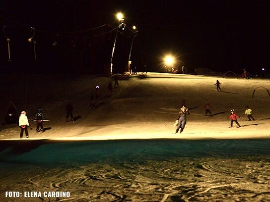
[[[217,79],[222,92],[217,92],[214,86]],[[259,88],[252,98],[255,88],[270,89],[269,80],[164,73],[126,75],[119,78],[120,87],[113,90],[113,95],[106,97],[109,81],[114,85],[110,78],[86,75],[73,78],[39,76],[28,80],[26,77],[5,77],[1,79],[6,96],[1,100],[0,115],[4,118],[9,99],[13,100],[18,112],[26,110],[29,119],[41,106],[45,118],[51,120],[45,122],[44,127],[51,129],[35,133],[32,122],[31,139],[270,138],[270,97],[265,89]],[[101,87],[103,98],[97,101],[99,106],[91,110],[90,96],[94,95],[96,85]],[[173,124],[183,99],[191,114],[184,132],[175,134]],[[206,100],[212,113],[217,113],[213,117],[204,116]],[[73,104],[74,116],[82,116],[75,123],[66,122],[67,101]],[[242,113],[246,105],[253,110],[256,121],[245,121],[247,117]],[[232,108],[241,116],[238,121],[243,127],[228,128],[227,116]],[[0,139],[18,138],[19,131],[16,124],[2,125]]]

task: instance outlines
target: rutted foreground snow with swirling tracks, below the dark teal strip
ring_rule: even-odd
[[[28,172],[23,181],[20,173],[11,177],[14,184],[2,184],[0,192],[12,186],[14,191],[70,191],[69,201],[94,202],[270,200],[269,159],[108,160]]]

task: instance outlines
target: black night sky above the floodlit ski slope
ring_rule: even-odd
[[[150,71],[162,71],[161,57],[177,56],[189,71],[258,74],[270,65],[270,1],[267,0],[1,0],[1,73],[103,73],[110,63],[117,20],[136,25],[131,59]],[[74,32],[106,25],[97,30]],[[36,29],[37,59],[27,39]],[[123,72],[134,34],[119,33],[113,63]],[[53,42],[57,46],[53,47]]]

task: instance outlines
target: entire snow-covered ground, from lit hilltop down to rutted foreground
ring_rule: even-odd
[[[147,73],[119,77],[107,97],[110,80],[1,79],[1,116],[12,100],[33,128],[28,139],[19,139],[18,124],[0,128],[1,202],[270,201],[269,80]],[[96,85],[102,98],[90,109]],[[184,132],[175,134],[183,99],[190,115]],[[68,101],[81,116],[74,123],[66,122]],[[205,101],[213,116],[204,115]],[[255,121],[245,121],[247,105]],[[38,107],[50,120],[44,133],[35,133],[31,121]],[[242,127],[229,128],[230,109]],[[6,198],[6,191],[68,191],[70,197]]]

